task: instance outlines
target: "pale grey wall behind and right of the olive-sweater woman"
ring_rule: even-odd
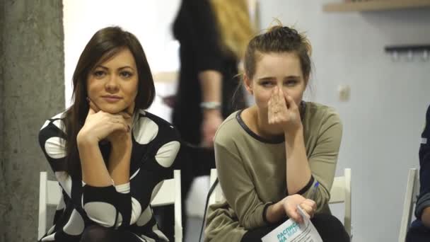
[[[262,26],[279,18],[313,44],[314,99],[337,108],[344,123],[337,171],[352,168],[354,241],[397,241],[407,169],[418,166],[430,104],[430,62],[392,62],[383,48],[429,44],[430,8],[322,12],[332,1],[261,1]],[[346,103],[339,84],[351,86]]]

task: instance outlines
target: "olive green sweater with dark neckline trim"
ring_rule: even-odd
[[[307,102],[302,112],[303,136],[312,177],[298,193],[315,196],[317,212],[329,212],[328,201],[337,163],[342,123],[332,108]],[[231,114],[214,139],[216,169],[225,201],[209,207],[205,241],[240,241],[248,229],[267,226],[265,210],[288,195],[284,138],[267,140]]]

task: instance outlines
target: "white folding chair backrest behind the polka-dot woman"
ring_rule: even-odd
[[[175,207],[175,242],[182,242],[182,200],[180,191],[180,171],[173,171],[173,179],[164,180],[163,185],[153,198],[151,206],[158,207],[174,204]],[[37,239],[46,233],[47,206],[57,205],[62,197],[62,190],[57,181],[47,180],[47,173],[40,172],[39,188],[39,226]]]

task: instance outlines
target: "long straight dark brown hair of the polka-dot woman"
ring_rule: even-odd
[[[98,30],[86,47],[73,74],[73,105],[66,111],[64,124],[66,127],[66,164],[70,175],[81,174],[81,162],[79,159],[76,137],[85,123],[89,106],[86,100],[88,93],[86,82],[88,74],[93,68],[105,60],[110,59],[121,50],[128,49],[132,52],[136,62],[139,76],[137,96],[134,100],[134,112],[151,106],[156,91],[153,83],[151,69],[144,49],[139,40],[132,33],[122,30],[120,27],[108,27]]]

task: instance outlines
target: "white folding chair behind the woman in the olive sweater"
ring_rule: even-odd
[[[211,169],[211,176],[209,178],[211,184],[214,184],[218,177],[216,169]],[[221,202],[223,200],[223,192],[221,186],[217,185],[209,197],[209,204]],[[335,204],[344,202],[345,204],[345,215],[344,215],[344,227],[352,238],[351,234],[351,169],[344,169],[344,175],[336,177],[333,181],[332,190],[330,190],[330,201],[329,204]]]

